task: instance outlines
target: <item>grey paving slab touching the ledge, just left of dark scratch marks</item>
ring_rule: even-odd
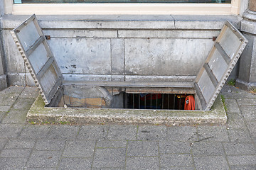
[[[195,141],[198,140],[196,128],[191,126],[173,126],[167,128],[167,140]]]

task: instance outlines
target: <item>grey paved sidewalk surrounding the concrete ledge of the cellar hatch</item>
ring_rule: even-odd
[[[0,169],[256,169],[256,95],[222,94],[226,125],[31,125],[38,91],[11,86],[0,91]]]

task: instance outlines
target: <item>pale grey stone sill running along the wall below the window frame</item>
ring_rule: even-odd
[[[93,15],[93,16],[37,16],[42,28],[83,29],[205,29],[220,30],[225,21],[240,28],[239,16],[170,16],[170,15]],[[28,16],[5,15],[3,28],[12,29]]]

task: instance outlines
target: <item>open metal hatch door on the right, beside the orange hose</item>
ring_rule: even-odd
[[[247,39],[227,21],[194,83],[199,109],[209,111],[213,106],[246,45]]]

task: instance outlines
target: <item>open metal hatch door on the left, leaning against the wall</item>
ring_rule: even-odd
[[[43,101],[49,104],[62,84],[63,76],[36,16],[29,17],[14,28],[12,35]]]

